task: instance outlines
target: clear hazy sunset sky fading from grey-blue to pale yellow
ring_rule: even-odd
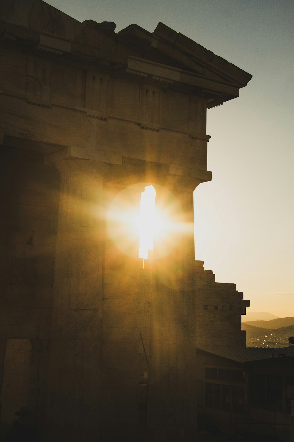
[[[196,259],[237,284],[248,314],[294,316],[293,0],[47,3],[116,32],[163,22],[253,75],[237,99],[208,110],[212,181],[195,191]]]

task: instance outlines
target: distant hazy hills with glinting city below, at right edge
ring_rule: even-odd
[[[243,319],[247,319],[247,315]],[[289,337],[294,336],[294,317],[278,318],[267,312],[250,312],[248,319],[242,322],[247,347],[287,347]]]

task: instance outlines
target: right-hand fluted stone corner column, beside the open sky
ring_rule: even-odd
[[[148,382],[149,442],[196,440],[196,321],[193,191],[174,191],[182,205],[175,247],[153,251]],[[156,187],[156,204],[163,199]],[[192,227],[192,229],[191,229]]]

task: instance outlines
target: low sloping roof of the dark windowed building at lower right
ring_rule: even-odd
[[[231,359],[235,362],[258,361],[279,356],[279,354],[290,354],[294,356],[294,346],[283,348],[271,347],[237,347],[231,345],[205,345],[197,346],[197,350],[206,351],[222,358]]]

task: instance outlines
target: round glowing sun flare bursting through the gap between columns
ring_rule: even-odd
[[[160,258],[171,252],[181,233],[182,207],[175,195],[163,187],[156,186],[158,198],[152,185],[142,185],[141,195],[138,186],[124,189],[112,201],[107,214],[108,234],[124,254],[134,259],[148,259],[153,247],[156,258]]]

